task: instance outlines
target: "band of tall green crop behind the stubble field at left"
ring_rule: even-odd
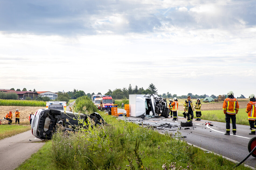
[[[35,100],[4,100],[0,99],[0,106],[46,106],[44,101]]]

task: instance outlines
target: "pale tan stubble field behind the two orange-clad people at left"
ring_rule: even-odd
[[[15,123],[15,111],[16,109],[20,112],[20,122],[29,120],[31,112],[35,113],[38,109],[44,107],[30,107],[30,106],[0,106],[0,119],[3,119],[5,115],[12,110],[12,123]],[[6,124],[7,121],[2,121],[2,124]]]

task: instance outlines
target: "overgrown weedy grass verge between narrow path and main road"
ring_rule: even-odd
[[[235,165],[171,135],[100,113],[108,125],[78,133],[58,131],[40,154],[18,169],[171,169],[169,164],[176,169],[232,169]],[[175,136],[180,139],[180,133]]]

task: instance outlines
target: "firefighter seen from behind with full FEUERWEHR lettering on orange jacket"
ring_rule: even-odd
[[[226,114],[226,133],[224,135],[230,135],[230,118],[232,120],[233,135],[236,135],[236,114],[239,110],[239,104],[237,99],[234,98],[233,91],[230,91],[223,102],[223,112]]]

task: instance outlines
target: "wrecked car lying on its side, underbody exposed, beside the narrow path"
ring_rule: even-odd
[[[80,128],[81,126],[76,120],[77,116],[78,113],[73,112],[64,113],[64,111],[55,109],[38,109],[31,122],[32,134],[42,140],[51,139],[57,124],[62,125],[65,130],[75,131],[76,127]],[[96,112],[90,114],[89,117],[95,122],[95,125],[105,123],[100,114]],[[80,118],[86,121],[88,117],[86,114],[80,114]],[[66,121],[67,119],[68,121]],[[68,125],[72,125],[72,128],[69,128]]]

